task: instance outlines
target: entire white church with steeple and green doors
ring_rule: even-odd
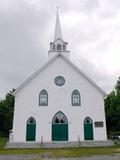
[[[57,12],[48,61],[15,91],[10,141],[106,141],[105,92],[70,60]]]

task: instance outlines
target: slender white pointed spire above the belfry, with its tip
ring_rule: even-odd
[[[56,40],[57,38],[63,39],[61,26],[60,26],[60,20],[59,20],[59,12],[58,12],[59,7],[57,6],[56,8],[57,8],[57,14],[56,14],[56,26],[55,26],[54,40]]]

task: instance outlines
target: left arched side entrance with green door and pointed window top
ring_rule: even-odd
[[[29,118],[26,126],[26,141],[35,141],[36,121],[34,118]]]

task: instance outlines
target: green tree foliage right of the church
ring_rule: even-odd
[[[120,77],[114,90],[105,98],[105,111],[108,133],[120,134]]]

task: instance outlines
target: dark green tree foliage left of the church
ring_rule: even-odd
[[[0,101],[0,134],[5,136],[8,136],[9,130],[12,129],[14,110],[13,92],[14,89],[7,93],[5,98]]]

